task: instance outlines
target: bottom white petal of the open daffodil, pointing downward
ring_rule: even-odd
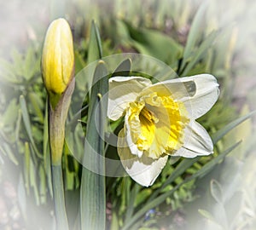
[[[157,160],[148,158],[143,155],[141,158],[131,154],[131,150],[127,147],[124,129],[119,132],[118,153],[121,163],[125,171],[138,184],[148,187],[151,186],[161,170],[165,167],[168,156],[164,156]]]

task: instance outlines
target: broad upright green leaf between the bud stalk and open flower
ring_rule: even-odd
[[[104,129],[107,118],[108,71],[100,60],[96,66],[90,106],[88,125],[84,143],[84,165],[80,190],[81,229],[105,229],[106,221],[106,187],[104,161]],[[95,171],[90,171],[94,169]]]

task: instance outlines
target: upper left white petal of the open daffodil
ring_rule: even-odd
[[[123,116],[125,108],[151,81],[142,77],[114,77],[109,79],[108,118],[117,120]]]

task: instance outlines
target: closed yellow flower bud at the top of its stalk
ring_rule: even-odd
[[[49,95],[61,95],[73,78],[73,36],[65,19],[52,21],[44,39],[42,72]]]

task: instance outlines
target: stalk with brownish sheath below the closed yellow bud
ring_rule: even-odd
[[[49,103],[49,147],[57,230],[68,230],[61,158],[65,138],[65,123],[73,94],[74,83],[75,79],[73,78],[73,81],[67,86],[66,91],[61,95],[61,99],[55,107]]]

